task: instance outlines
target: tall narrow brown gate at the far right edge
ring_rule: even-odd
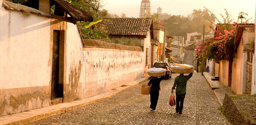
[[[246,90],[245,90],[245,94],[251,94],[251,92],[252,92],[253,54],[254,54],[253,50],[247,49]]]

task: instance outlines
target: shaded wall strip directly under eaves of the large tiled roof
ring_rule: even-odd
[[[121,43],[124,43],[124,40],[132,40],[132,42],[135,44],[135,46],[142,46],[141,40],[144,40],[145,37],[142,36],[109,36],[111,43],[114,43],[115,40],[121,41]]]

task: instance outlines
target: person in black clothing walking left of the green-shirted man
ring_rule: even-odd
[[[158,97],[159,97],[159,90],[160,90],[160,82],[164,79],[164,76],[158,78],[158,77],[154,77],[151,78],[149,80],[148,85],[151,85],[151,89],[150,89],[150,102],[151,105],[149,108],[151,108],[151,111],[155,111],[155,107],[158,101]]]

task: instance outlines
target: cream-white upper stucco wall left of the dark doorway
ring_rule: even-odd
[[[48,86],[50,19],[0,8],[0,89]]]

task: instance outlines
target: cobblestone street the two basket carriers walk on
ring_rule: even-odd
[[[127,89],[111,98],[79,107],[65,114],[30,123],[36,124],[230,124],[218,110],[219,105],[203,76],[194,73],[187,83],[182,114],[169,105],[174,78],[161,82],[156,112],[151,112],[150,96],[140,94],[141,84]]]

